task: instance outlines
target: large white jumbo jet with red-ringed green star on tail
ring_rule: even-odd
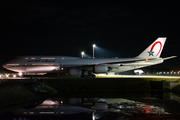
[[[163,63],[176,56],[161,58],[166,37],[159,37],[134,58],[81,58],[70,56],[17,56],[4,68],[19,73],[65,72],[81,77],[96,77],[97,73],[124,72]]]

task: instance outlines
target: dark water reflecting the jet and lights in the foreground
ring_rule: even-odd
[[[103,94],[103,98],[100,93]],[[148,95],[141,93],[132,95],[129,92],[118,92],[117,96],[112,97],[111,92],[99,92],[99,97],[92,97],[93,93],[91,92],[63,93],[66,95],[59,92],[44,100],[30,102],[18,109],[1,110],[0,118],[14,120],[121,120],[139,115],[158,116],[180,113],[179,97],[176,94],[154,93],[156,92],[147,93]],[[87,97],[87,94],[90,97]],[[123,97],[124,95],[125,97]]]

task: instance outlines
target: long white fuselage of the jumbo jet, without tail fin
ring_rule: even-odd
[[[52,72],[68,71],[70,68],[91,70],[93,66],[107,66],[109,71],[122,72],[150,65],[160,64],[162,58],[146,60],[145,58],[79,58],[67,56],[18,56],[3,65],[15,72]]]

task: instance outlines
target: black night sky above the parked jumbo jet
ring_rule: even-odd
[[[180,54],[179,1],[4,0],[0,63],[21,55],[135,57],[167,37],[162,57]],[[161,66],[180,67],[180,58]]]

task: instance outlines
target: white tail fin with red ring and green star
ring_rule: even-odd
[[[146,48],[139,56],[140,58],[158,58],[161,55],[166,37],[159,37],[148,48]]]

